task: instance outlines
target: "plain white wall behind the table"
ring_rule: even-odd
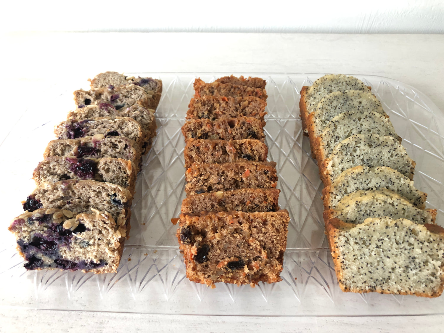
[[[444,33],[443,0],[5,1],[10,31]]]

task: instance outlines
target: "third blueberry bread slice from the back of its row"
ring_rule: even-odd
[[[98,117],[128,117],[136,120],[143,128],[144,142],[143,153],[151,149],[151,144],[156,135],[156,119],[153,109],[147,109],[138,104],[131,107],[123,107],[116,110],[111,104],[100,103],[99,105],[88,105],[68,113],[67,120],[79,122],[84,119],[93,119]]]

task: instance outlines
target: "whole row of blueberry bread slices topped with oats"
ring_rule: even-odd
[[[115,272],[129,236],[131,200],[142,155],[156,134],[162,81],[97,75],[74,92],[78,107],[56,126],[37,188],[9,230],[27,270]]]

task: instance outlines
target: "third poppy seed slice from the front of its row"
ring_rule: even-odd
[[[419,209],[425,208],[427,194],[417,190],[413,181],[388,166],[353,166],[342,172],[331,186],[322,190],[324,208],[335,208],[341,199],[359,190],[381,190],[386,188],[408,199]]]

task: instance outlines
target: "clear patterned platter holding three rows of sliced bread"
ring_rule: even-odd
[[[131,238],[116,274],[84,274],[59,270],[26,271],[15,239],[4,230],[0,246],[2,305],[38,309],[245,316],[373,316],[444,313],[444,296],[427,299],[377,293],[343,293],[337,284],[322,220],[322,185],[299,119],[299,91],[323,74],[282,73],[128,73],[163,80],[156,111],[157,137],[144,157],[132,206]],[[283,281],[256,288],[224,283],[215,289],[188,281],[178,251],[178,217],[185,197],[180,128],[192,97],[194,78],[206,82],[224,75],[267,79],[266,143],[269,160],[277,162],[279,204],[290,223]],[[354,75],[372,87],[416,161],[415,185],[428,193],[427,206],[438,209],[444,225],[443,113],[415,88],[393,79]],[[85,87],[86,88],[86,87]],[[54,139],[53,126],[74,105],[71,91],[42,107],[29,106],[0,145],[0,168],[17,186],[4,195],[6,214],[19,215],[20,200],[34,188],[32,170],[44,147]],[[20,153],[24,144],[32,148]],[[13,167],[11,167],[13,166]],[[20,198],[17,200],[17,198]]]

